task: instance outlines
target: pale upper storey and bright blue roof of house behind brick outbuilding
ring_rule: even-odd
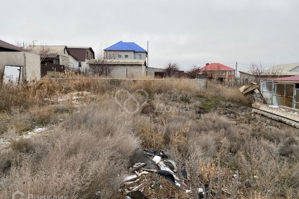
[[[117,42],[116,44],[104,49],[106,57],[113,59],[142,59],[147,58],[147,51],[134,42]]]

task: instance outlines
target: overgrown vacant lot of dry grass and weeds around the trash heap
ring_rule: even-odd
[[[124,90],[138,91],[128,99]],[[251,99],[237,89],[83,77],[1,85],[0,93],[0,198],[16,190],[125,198],[120,190],[137,148],[167,150],[187,170],[184,197],[198,198],[201,179],[213,198],[299,198],[298,132],[255,121]],[[47,128],[26,136],[36,127]]]

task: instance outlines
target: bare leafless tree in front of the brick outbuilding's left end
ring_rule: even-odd
[[[95,55],[95,59],[91,60],[89,63],[89,72],[98,75],[98,76],[107,76],[109,75],[113,67],[107,64],[110,59],[116,59],[117,54],[113,51],[105,52],[104,49],[107,45],[101,45],[97,49],[97,53]]]

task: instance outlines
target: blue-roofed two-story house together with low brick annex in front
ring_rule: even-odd
[[[105,59],[88,62],[91,73],[112,78],[146,75],[147,51],[134,42],[118,42],[106,49]]]

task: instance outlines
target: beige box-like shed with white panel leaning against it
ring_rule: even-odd
[[[18,77],[8,74],[9,68],[16,67],[20,71]],[[7,71],[7,72],[5,72]],[[5,74],[5,76],[4,76]],[[0,78],[12,81],[40,80],[40,55],[29,52],[0,52]]]

